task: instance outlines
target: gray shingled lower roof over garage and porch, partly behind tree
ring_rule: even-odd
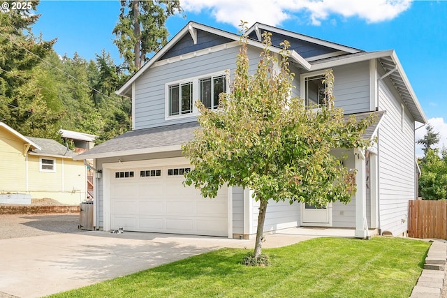
[[[380,121],[385,114],[381,112],[365,112],[356,114],[356,119],[361,120],[370,114],[377,114],[377,119],[367,128],[362,137],[365,139],[372,137],[376,132]],[[345,121],[351,115],[344,115]],[[129,156],[135,154],[148,154],[154,152],[180,151],[182,144],[194,139],[194,131],[199,129],[197,121],[184,124],[173,124],[154,128],[143,128],[136,131],[128,131],[112,140],[103,142],[98,146],[74,156],[73,159],[107,158],[115,156]]]

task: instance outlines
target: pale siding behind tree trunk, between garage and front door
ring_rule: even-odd
[[[256,234],[258,227],[259,202],[253,202],[253,231]],[[269,200],[267,214],[265,214],[264,232],[295,228],[300,225],[300,204],[295,202],[274,202]]]

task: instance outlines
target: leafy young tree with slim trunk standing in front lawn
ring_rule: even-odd
[[[237,56],[230,93],[221,94],[221,111],[197,103],[195,140],[183,146],[195,166],[186,174],[186,185],[200,188],[214,198],[223,184],[254,191],[260,202],[255,259],[262,258],[263,226],[269,200],[306,202],[318,207],[339,200],[349,202],[356,191],[355,172],[330,154],[333,148],[366,148],[362,133],[373,117],[344,121],[334,107],[333,75],[326,76],[327,105],[318,111],[292,98],[293,73],[288,69],[288,43],[281,45],[281,59],[270,53],[270,33],[263,34],[264,49],[254,75],[249,74],[247,38]],[[277,70],[279,66],[279,70]]]

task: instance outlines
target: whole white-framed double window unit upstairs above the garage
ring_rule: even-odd
[[[227,86],[227,78],[223,72],[166,84],[167,119],[198,114],[194,105],[196,100],[200,100],[211,110],[217,110],[219,94],[225,93]]]

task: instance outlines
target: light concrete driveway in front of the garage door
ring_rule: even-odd
[[[263,247],[314,235],[272,234]],[[254,248],[254,240],[102,231],[0,240],[0,297],[41,297],[124,276],[222,247]]]

